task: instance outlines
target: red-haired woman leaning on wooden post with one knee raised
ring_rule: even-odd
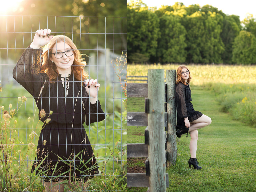
[[[176,135],[178,138],[182,134],[190,134],[191,140],[189,144],[190,149],[190,159],[188,165],[192,164],[195,169],[201,169],[198,166],[198,161],[196,159],[196,149],[198,140],[198,129],[201,129],[207,125],[210,125],[212,120],[208,116],[202,114],[199,111],[195,111],[191,103],[191,90],[189,83],[191,81],[191,76],[188,68],[181,65],[177,69],[177,80],[175,85],[175,101],[177,109],[177,127],[178,131]]]

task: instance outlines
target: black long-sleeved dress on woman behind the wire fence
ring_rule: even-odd
[[[83,178],[86,181],[98,173],[98,165],[83,123],[89,125],[102,121],[106,115],[99,100],[95,104],[90,103],[85,87],[73,74],[65,79],[69,82],[68,87],[64,88],[60,75],[57,81],[50,83],[48,75],[40,72],[42,59],[41,49],[28,47],[13,69],[14,79],[34,97],[39,112],[45,110],[46,116],[41,121],[44,122],[48,117],[51,119],[48,124],[43,124],[31,172],[35,168],[38,168],[36,173],[43,171],[46,182],[65,180],[67,177],[71,180]],[[53,113],[49,116],[50,110]],[[54,178],[60,174],[61,177]]]

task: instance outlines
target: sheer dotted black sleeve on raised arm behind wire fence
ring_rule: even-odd
[[[20,83],[33,97],[38,97],[44,81],[48,75],[41,73],[43,54],[41,49],[26,48],[13,69],[13,78]],[[49,81],[44,84],[43,93],[49,86]],[[42,93],[42,94],[43,94]]]

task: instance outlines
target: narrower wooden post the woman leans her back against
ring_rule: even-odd
[[[176,70],[166,70],[167,102],[167,167],[175,164],[176,145],[176,105],[175,105]]]

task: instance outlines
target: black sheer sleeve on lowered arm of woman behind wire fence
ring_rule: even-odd
[[[106,118],[106,114],[101,109],[100,101],[97,99],[96,103],[91,104],[89,101],[89,95],[85,91],[85,123],[86,125],[90,125],[94,122],[103,121]]]

